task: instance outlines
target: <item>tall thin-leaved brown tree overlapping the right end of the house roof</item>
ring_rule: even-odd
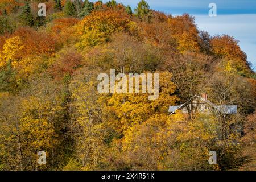
[[[208,86],[209,85],[209,86]],[[245,86],[247,85],[247,86]],[[218,106],[237,105],[236,114],[226,114],[224,109],[214,109],[218,122],[216,148],[221,169],[234,169],[242,164],[241,134],[246,115],[254,109],[254,97],[246,78],[229,71],[218,71],[207,81],[209,97]]]

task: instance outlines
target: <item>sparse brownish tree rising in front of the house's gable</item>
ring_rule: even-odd
[[[212,57],[187,53],[167,58],[167,69],[173,74],[172,80],[177,86],[181,103],[191,101],[195,95],[201,95],[201,85],[207,80]],[[187,106],[189,118],[193,118],[192,108]]]

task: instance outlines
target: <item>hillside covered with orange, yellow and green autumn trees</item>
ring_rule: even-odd
[[[159,73],[158,100],[98,93],[110,69]],[[238,40],[144,0],[0,0],[0,170],[255,170],[255,79]],[[237,114],[168,113],[202,93]]]

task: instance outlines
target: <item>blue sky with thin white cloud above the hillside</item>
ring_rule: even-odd
[[[133,9],[139,0],[116,0]],[[228,34],[239,40],[248,61],[256,69],[256,0],[146,0],[151,9],[172,15],[189,13],[196,18],[199,30],[210,35]],[[103,2],[106,2],[103,1]],[[209,3],[216,3],[217,17],[210,17]],[[254,69],[254,71],[255,71]]]

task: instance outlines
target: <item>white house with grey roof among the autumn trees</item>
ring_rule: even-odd
[[[170,114],[175,114],[177,110],[181,110],[185,114],[196,112],[209,114],[212,111],[221,114],[237,114],[237,105],[214,105],[208,100],[207,94],[202,94],[201,97],[193,96],[191,100],[184,104],[169,107]]]

